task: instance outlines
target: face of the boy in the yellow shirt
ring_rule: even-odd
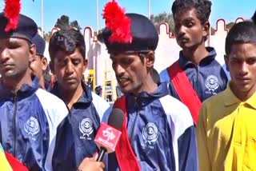
[[[230,88],[238,99],[246,101],[256,91],[256,44],[234,44],[225,62],[230,71]]]

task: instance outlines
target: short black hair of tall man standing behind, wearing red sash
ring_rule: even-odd
[[[209,0],[175,0],[171,6],[174,17],[188,10],[195,10],[201,24],[205,24],[209,20],[211,2]]]

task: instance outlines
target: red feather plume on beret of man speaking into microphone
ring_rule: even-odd
[[[118,6],[118,2],[115,2],[115,0],[107,2],[102,15],[105,19],[106,29],[112,32],[109,38],[110,43],[132,42],[132,36],[130,35],[130,18],[126,16],[125,9]]]

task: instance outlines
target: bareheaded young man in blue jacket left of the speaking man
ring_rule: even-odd
[[[51,93],[68,106],[70,115],[58,127],[54,170],[75,170],[85,157],[97,152],[94,137],[110,104],[82,82],[86,44],[78,30],[59,30],[50,38],[50,67],[57,78]],[[106,120],[105,120],[106,121]]]

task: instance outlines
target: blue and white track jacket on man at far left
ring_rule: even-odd
[[[52,170],[52,155],[65,103],[38,88],[34,78],[16,93],[0,84],[0,142],[30,170]]]

